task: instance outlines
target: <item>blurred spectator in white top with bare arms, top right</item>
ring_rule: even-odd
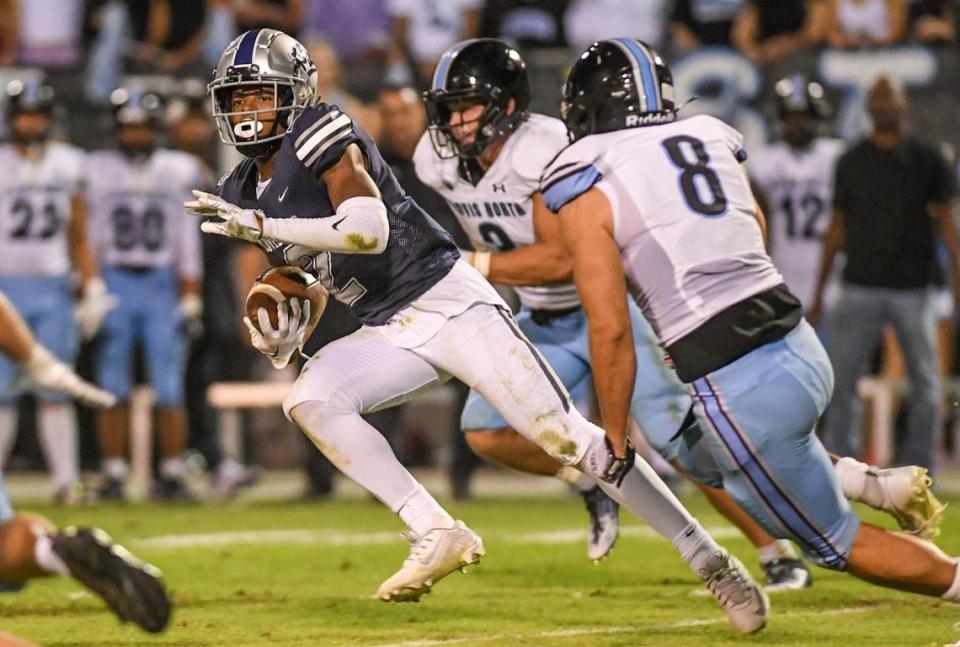
[[[827,42],[837,49],[886,47],[907,31],[906,0],[828,0]]]

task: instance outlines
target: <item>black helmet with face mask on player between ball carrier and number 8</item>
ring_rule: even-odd
[[[440,57],[431,88],[423,93],[434,149],[443,158],[475,158],[526,120],[530,95],[530,78],[520,52],[495,38],[457,43]],[[510,99],[514,111],[507,114]],[[474,101],[484,110],[476,139],[464,145],[453,136],[450,104]]]

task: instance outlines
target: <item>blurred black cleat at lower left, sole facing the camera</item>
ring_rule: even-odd
[[[123,622],[158,633],[170,622],[170,597],[160,570],[140,561],[99,528],[64,528],[53,551],[70,575],[103,598]]]

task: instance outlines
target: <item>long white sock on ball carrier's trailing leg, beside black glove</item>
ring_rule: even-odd
[[[606,465],[607,457],[606,443],[603,436],[598,435],[587,449],[580,467],[591,473],[603,491],[614,501],[640,517],[664,539],[673,541],[696,523],[670,488],[640,456],[636,457],[633,469],[624,476],[619,487],[602,481],[601,468],[597,466]]]

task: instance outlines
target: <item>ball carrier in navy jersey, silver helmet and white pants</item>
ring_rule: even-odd
[[[317,101],[314,75],[306,50],[282,32],[252,30],[227,47],[210,84],[213,114],[224,141],[248,159],[221,180],[218,195],[197,191],[186,208],[213,216],[203,231],[254,242],[273,264],[315,273],[363,324],[309,359],[284,411],[410,527],[410,556],[379,596],[417,600],[484,554],[480,537],[440,507],[361,417],[454,375],[672,541],[735,629],[762,627],[766,600],[742,565],[632,448],[615,455],[571,406],[501,298],[403,193],[366,133]],[[291,299],[278,309],[276,326],[265,310],[258,326],[246,324],[253,345],[283,367],[304,343],[310,306]]]

